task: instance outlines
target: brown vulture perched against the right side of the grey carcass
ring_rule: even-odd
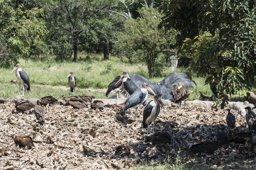
[[[187,90],[183,82],[179,82],[176,85],[173,85],[172,89],[172,99],[173,102],[180,102],[187,99],[191,93],[190,90]]]

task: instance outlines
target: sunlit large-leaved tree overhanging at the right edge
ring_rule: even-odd
[[[207,9],[202,23],[208,32],[188,38],[182,49],[193,56],[191,69],[207,76],[219,97],[235,94],[255,81],[256,2],[214,1]]]

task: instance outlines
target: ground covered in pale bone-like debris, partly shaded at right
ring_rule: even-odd
[[[140,163],[175,160],[178,153],[185,162],[196,165],[256,167],[255,155],[249,149],[251,136],[242,142],[233,140],[221,145],[214,153],[189,152],[190,146],[214,140],[217,132],[228,131],[227,111],[170,104],[160,111],[156,132],[168,132],[171,142],[152,144],[145,142],[143,107],[137,121],[134,114],[127,114],[128,120],[124,122],[115,118],[120,109],[116,105],[105,105],[102,110],[64,105],[47,105],[44,109],[46,123],[41,126],[35,115],[17,113],[13,103],[0,104],[0,169],[127,169]],[[230,131],[246,131],[245,117],[232,112],[236,129]],[[9,135],[17,133],[31,136],[35,147],[16,146]]]

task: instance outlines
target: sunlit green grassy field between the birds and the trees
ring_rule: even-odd
[[[31,93],[25,94],[28,98],[41,98],[46,95],[52,95],[61,98],[61,95],[68,95],[67,75],[74,71],[77,77],[76,94],[91,94],[98,99],[104,99],[106,90],[90,90],[88,88],[107,88],[107,85],[117,76],[121,75],[123,70],[128,74],[136,73],[148,78],[148,69],[142,64],[128,64],[120,62],[117,57],[110,57],[109,61],[104,61],[102,55],[80,54],[80,60],[73,62],[55,62],[55,61],[31,61],[20,60],[21,68],[29,75],[31,81]],[[10,74],[12,68],[0,68],[0,97],[12,98],[18,94],[19,85],[10,85],[10,81],[16,80],[15,73]],[[187,72],[186,69],[177,68],[173,72]],[[150,81],[160,81],[171,73],[170,68],[164,70],[163,77],[155,77]],[[204,85],[205,78],[193,77],[197,84],[197,89],[192,89],[192,94],[188,100],[199,98],[199,91],[205,95],[211,96],[209,85]],[[47,85],[47,86],[45,86]]]

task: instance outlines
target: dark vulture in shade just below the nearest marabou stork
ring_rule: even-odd
[[[152,144],[169,143],[171,144],[171,136],[168,132],[157,132],[153,135],[146,136],[145,142],[151,142]]]

